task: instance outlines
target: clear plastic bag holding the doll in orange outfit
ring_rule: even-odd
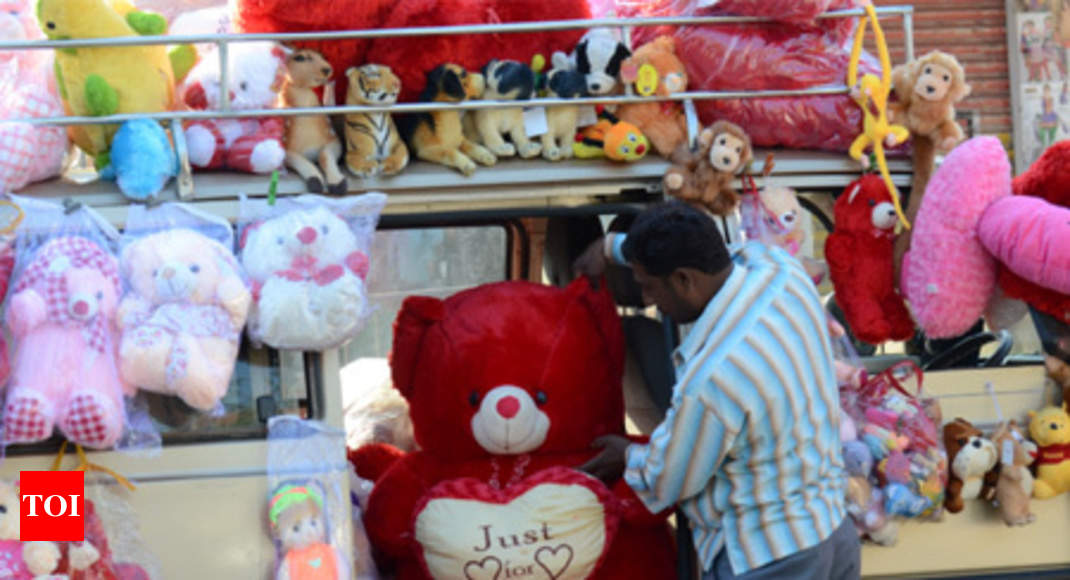
[[[266,512],[276,578],[353,578],[351,471],[341,431],[292,415],[268,422]]]

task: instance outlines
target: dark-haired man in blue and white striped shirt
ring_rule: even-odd
[[[588,248],[631,266],[644,300],[693,327],[673,354],[672,407],[647,445],[601,438],[579,469],[623,476],[652,512],[679,504],[704,579],[855,579],[839,397],[827,319],[801,264],[747,244],[681,202],[642,213]]]

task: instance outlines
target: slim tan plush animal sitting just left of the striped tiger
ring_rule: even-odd
[[[321,106],[315,89],[325,86],[334,72],[326,59],[315,50],[295,50],[287,58],[286,66],[289,72],[282,89],[286,106]],[[338,169],[341,153],[341,141],[327,116],[287,118],[286,164],[305,180],[309,192],[322,192],[325,182],[332,194],[346,193],[346,175]]]

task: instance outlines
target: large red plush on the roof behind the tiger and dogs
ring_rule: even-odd
[[[585,19],[586,0],[233,0],[234,25],[242,32],[316,32],[381,28],[482,25]],[[294,43],[326,57],[336,73],[338,103],[346,102],[350,66],[389,66],[401,79],[400,101],[415,101],[427,73],[453,62],[477,71],[491,59],[531,62],[541,54],[571,51],[583,30],[536,33],[461,34]]]

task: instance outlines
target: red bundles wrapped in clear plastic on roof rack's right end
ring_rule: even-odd
[[[603,15],[613,10],[622,17],[690,16],[722,14],[728,11],[724,6],[734,5],[744,15],[792,21],[643,27],[635,30],[632,42],[638,46],[660,34],[674,36],[687,65],[688,90],[796,90],[842,86],[846,79],[858,19],[801,21],[826,3],[828,10],[856,4],[855,0],[735,0],[706,9],[698,0],[616,0],[603,1],[596,10]],[[795,10],[781,13],[786,5]],[[878,70],[876,59],[863,52],[860,74]],[[700,101],[696,106],[704,124],[731,121],[747,129],[755,147],[846,151],[861,133],[861,110],[846,94]]]

